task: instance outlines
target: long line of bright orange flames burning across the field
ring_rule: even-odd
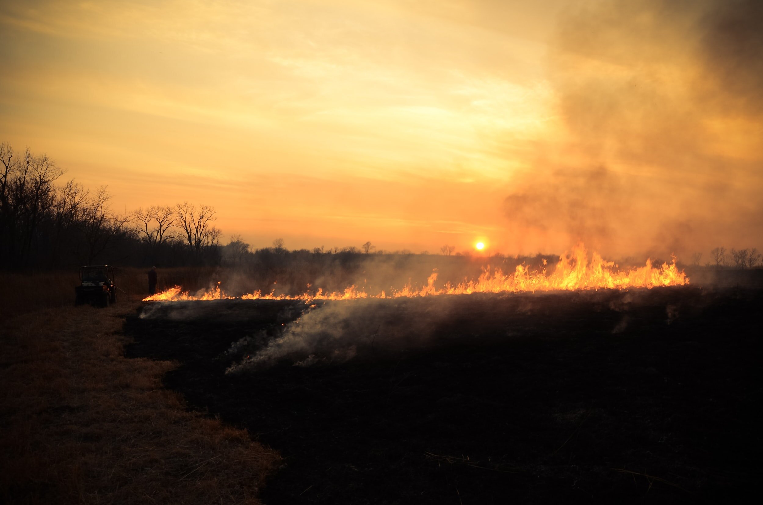
[[[390,293],[381,291],[378,294],[369,294],[359,290],[356,286],[350,286],[344,291],[324,292],[307,291],[296,296],[284,294],[262,294],[255,291],[244,294],[243,300],[356,300],[358,298],[399,298],[437,296],[441,294],[472,294],[472,293],[500,293],[504,291],[557,291],[578,289],[627,289],[627,288],[654,288],[655,286],[680,286],[687,285],[689,279],[683,271],[679,272],[675,264],[675,258],[671,263],[663,263],[656,268],[651,260],[647,259],[644,266],[637,269],[620,271],[614,262],[607,262],[598,253],[593,253],[588,259],[588,253],[582,244],[575,246],[572,252],[559,258],[554,271],[546,275],[546,269],[541,272],[530,272],[525,265],[517,265],[513,273],[504,274],[501,269],[491,270],[485,267],[482,275],[475,281],[463,281],[458,285],[449,282],[442,288],[437,288],[435,282],[437,272],[433,272],[427,279],[427,285],[422,288],[414,288],[405,285],[399,290]],[[229,296],[217,283],[214,289],[203,294],[189,295],[182,288],[175,286],[162,293],[155,294],[144,301],[182,301],[182,300],[221,300],[237,298]]]

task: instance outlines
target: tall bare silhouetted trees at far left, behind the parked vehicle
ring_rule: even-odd
[[[64,172],[47,155],[0,143],[2,269],[220,262],[213,208],[183,203],[119,214],[111,211],[105,186],[89,191],[60,182]]]

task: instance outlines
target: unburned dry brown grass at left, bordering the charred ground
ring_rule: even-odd
[[[161,384],[174,364],[124,358],[137,273],[130,296],[106,309],[71,307],[62,290],[45,298],[53,307],[3,316],[0,501],[258,503],[279,456],[186,411]]]

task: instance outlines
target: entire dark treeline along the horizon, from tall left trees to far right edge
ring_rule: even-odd
[[[295,266],[304,263],[305,257],[314,256],[313,265],[329,270],[342,265],[344,271],[356,261],[353,256],[414,254],[409,249],[393,252],[377,249],[371,241],[360,247],[320,246],[289,251],[281,238],[273,240],[272,247],[253,249],[240,235],[231,236],[230,242],[221,246],[222,231],[215,226],[214,207],[183,202],[140,207],[121,214],[111,210],[111,195],[106,186],[90,191],[74,180],[59,182],[64,174],[65,170],[47,155],[35,155],[28,148],[18,153],[10,144],[0,143],[2,269],[60,269],[108,262],[282,270],[285,265]],[[471,251],[456,253],[456,247],[448,244],[440,247],[440,253],[472,255]],[[291,259],[279,258],[284,255]],[[694,253],[692,263],[699,265],[701,257],[701,253]],[[763,265],[755,248],[726,251],[725,247],[716,247],[710,251],[710,257],[716,267],[752,269]],[[505,257],[495,254],[493,258]],[[555,256],[548,258],[553,260]],[[542,255],[535,259],[542,259]]]

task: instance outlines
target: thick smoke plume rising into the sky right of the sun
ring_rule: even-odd
[[[549,73],[565,131],[505,201],[561,250],[688,257],[759,246],[763,2],[587,2],[562,14]],[[518,239],[519,240],[519,239]]]

